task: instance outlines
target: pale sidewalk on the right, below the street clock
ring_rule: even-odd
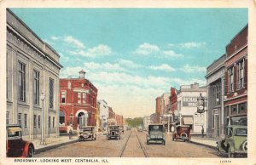
[[[201,136],[191,136],[190,142],[194,143],[195,145],[203,145],[203,146],[207,146],[209,148],[212,149],[216,149],[216,141],[217,139],[212,139],[212,138],[201,138]]]

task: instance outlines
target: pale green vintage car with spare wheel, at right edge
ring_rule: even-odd
[[[229,157],[247,156],[247,117],[229,118],[226,135],[216,143],[218,154],[226,152]]]

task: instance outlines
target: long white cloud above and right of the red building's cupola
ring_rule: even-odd
[[[81,55],[84,57],[90,57],[90,58],[96,58],[96,57],[102,57],[102,56],[108,56],[112,54],[111,48],[108,47],[108,45],[99,44],[96,47],[89,48],[89,49],[79,49],[76,51],[70,51],[70,54],[73,55]]]

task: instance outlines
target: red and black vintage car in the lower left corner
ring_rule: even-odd
[[[20,125],[6,126],[6,156],[8,157],[32,157],[35,153],[34,145],[22,139]]]

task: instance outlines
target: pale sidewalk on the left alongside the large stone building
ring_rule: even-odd
[[[68,136],[59,136],[59,137],[49,137],[45,139],[46,145],[40,145],[41,139],[25,139],[35,146],[36,154],[44,151],[48,151],[62,145],[69,145],[79,141],[77,135],[73,135],[72,139],[69,139]]]

